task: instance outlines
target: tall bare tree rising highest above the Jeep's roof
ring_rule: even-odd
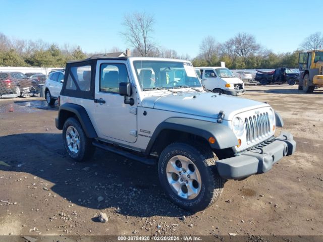
[[[141,56],[151,56],[155,45],[152,41],[154,18],[146,13],[126,15],[123,25],[126,27],[121,34],[126,41],[138,50]]]

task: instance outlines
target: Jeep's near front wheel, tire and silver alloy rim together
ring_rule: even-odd
[[[216,201],[225,179],[215,167],[217,156],[208,147],[173,143],[160,154],[158,176],[169,199],[197,212]]]

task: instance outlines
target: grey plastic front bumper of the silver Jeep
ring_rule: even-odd
[[[296,142],[289,132],[264,141],[243,154],[216,162],[218,172],[225,179],[242,179],[272,169],[273,164],[295,152]]]

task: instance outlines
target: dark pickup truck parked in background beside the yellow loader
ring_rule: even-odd
[[[272,72],[262,72],[256,70],[255,80],[259,81],[262,85],[267,85],[271,83],[288,83],[289,85],[295,85],[296,82],[299,80],[299,73],[295,73],[292,70],[281,67],[277,68],[275,71]]]

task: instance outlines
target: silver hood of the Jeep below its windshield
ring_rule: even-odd
[[[194,97],[195,96],[195,97]],[[167,96],[145,97],[142,106],[165,111],[179,112],[216,119],[223,110],[225,120],[232,120],[237,113],[269,106],[266,103],[241,97],[211,92],[170,94]]]

